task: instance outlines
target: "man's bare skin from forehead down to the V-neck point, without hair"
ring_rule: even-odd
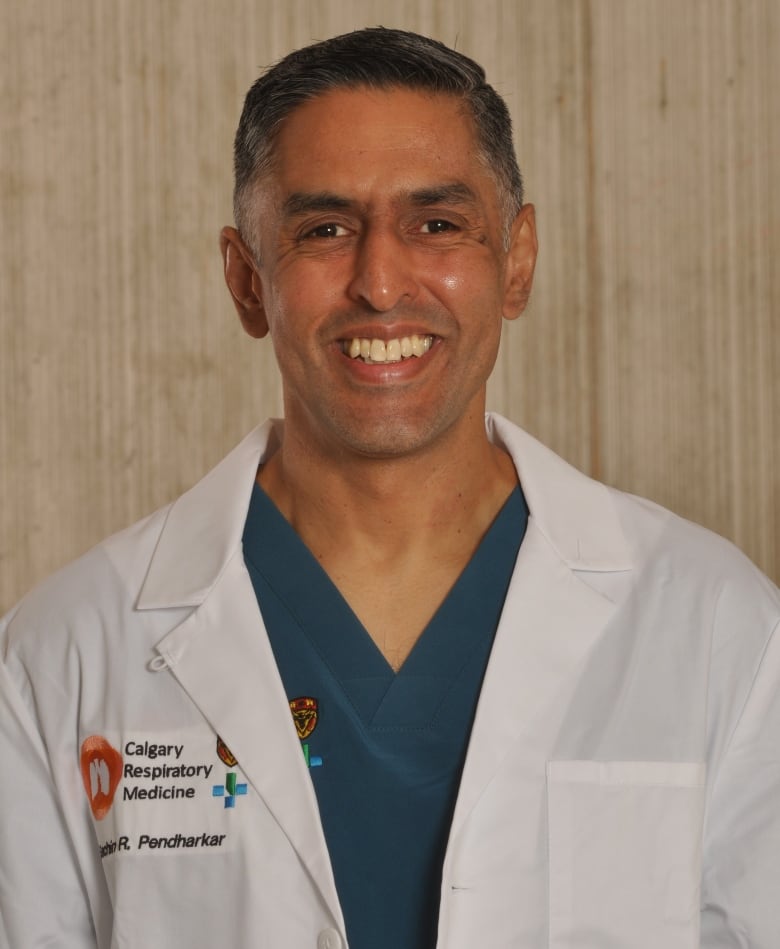
[[[517,485],[485,383],[528,298],[533,208],[502,202],[461,99],[397,87],[299,105],[250,182],[222,247],[284,385],[258,480],[398,668]]]

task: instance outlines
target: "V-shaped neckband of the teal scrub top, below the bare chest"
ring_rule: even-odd
[[[366,727],[419,728],[433,720],[472,657],[479,653],[486,661],[527,517],[518,487],[397,672],[258,485],[244,531],[244,556],[250,573],[256,571],[284,605]],[[267,625],[273,644],[279,631]]]

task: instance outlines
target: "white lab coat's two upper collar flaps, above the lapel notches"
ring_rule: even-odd
[[[171,505],[138,609],[198,606],[205,600],[240,546],[255,473],[278,448],[281,425],[271,419],[256,428]],[[569,568],[630,568],[608,488],[501,416],[488,414],[486,426],[491,440],[512,456],[536,527]]]

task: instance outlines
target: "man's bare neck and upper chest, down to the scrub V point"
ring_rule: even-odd
[[[297,434],[286,426],[258,480],[398,669],[516,485],[514,465],[483,413],[403,458],[333,457]]]

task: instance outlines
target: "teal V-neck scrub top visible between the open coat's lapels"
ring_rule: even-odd
[[[244,558],[353,949],[431,949],[471,724],[528,510],[517,487],[398,672],[255,485]]]

